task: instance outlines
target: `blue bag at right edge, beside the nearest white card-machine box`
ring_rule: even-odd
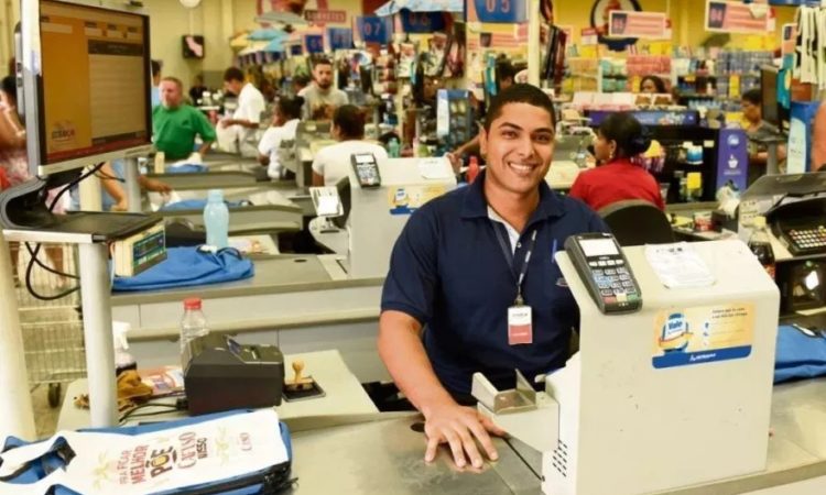
[[[774,383],[826,375],[826,338],[809,337],[791,326],[778,328]]]

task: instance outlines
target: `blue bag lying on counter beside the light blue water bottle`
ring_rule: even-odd
[[[133,277],[115,277],[112,290],[157,290],[217,284],[249,278],[256,274],[249,258],[232,248],[217,253],[198,248],[170,248],[166,260]]]

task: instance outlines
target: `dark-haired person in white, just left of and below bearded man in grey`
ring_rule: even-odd
[[[284,174],[282,155],[295,143],[295,130],[301,122],[301,111],[304,107],[302,97],[281,97],[275,106],[272,125],[264,132],[258,143],[258,161],[267,167],[267,175],[271,179],[280,179]]]

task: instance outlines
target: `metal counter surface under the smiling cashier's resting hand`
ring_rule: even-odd
[[[486,463],[481,470],[455,468],[446,448],[427,464],[423,460],[423,419],[419,415],[389,416],[393,419],[295,431],[293,476],[297,483],[287,493],[539,493],[536,475],[502,439],[493,439],[499,461]]]

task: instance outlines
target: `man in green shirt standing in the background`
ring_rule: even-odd
[[[164,152],[166,160],[188,157],[195,150],[195,136],[204,144],[198,148],[204,154],[215,141],[215,129],[200,110],[183,103],[183,84],[174,77],[161,79],[161,105],[152,109],[152,132],[155,147]]]

